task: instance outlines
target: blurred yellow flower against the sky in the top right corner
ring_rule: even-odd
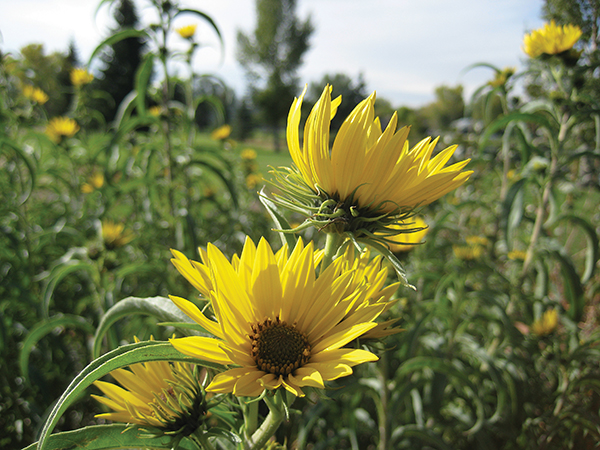
[[[577,25],[556,25],[551,21],[543,28],[525,35],[523,50],[532,58],[541,55],[557,55],[573,48],[581,37],[581,28]]]

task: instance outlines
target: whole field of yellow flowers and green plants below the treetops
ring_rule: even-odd
[[[47,117],[4,55],[0,447],[597,448],[580,36],[549,23],[527,71],[484,64],[478,119],[439,141],[381,123],[373,96],[330,134],[335,86],[308,110],[299,93],[284,156],[201,132],[200,75],[170,75],[166,49],[100,128],[86,69]]]

